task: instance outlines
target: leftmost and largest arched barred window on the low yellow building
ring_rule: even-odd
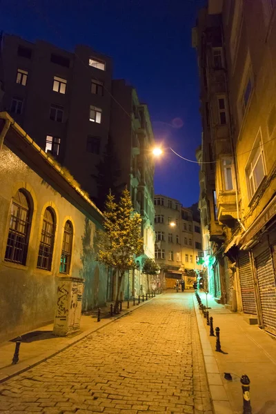
[[[6,246],[5,260],[26,264],[31,219],[30,200],[20,188],[12,199],[10,229]]]

